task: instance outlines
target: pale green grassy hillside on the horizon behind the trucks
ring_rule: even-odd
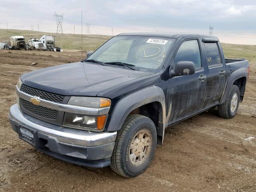
[[[56,35],[56,33],[38,32],[30,30],[14,30],[0,29],[0,42],[10,42],[10,36],[21,35],[24,36],[26,42],[30,38],[38,38],[48,34],[54,35],[56,39],[56,46],[63,48],[64,50],[81,50],[81,34],[63,34]],[[106,42],[112,36],[106,35],[83,35],[83,50],[92,51],[96,50],[100,45]],[[256,63],[256,45],[237,45],[222,43],[224,54],[230,58],[246,58],[249,61]]]

